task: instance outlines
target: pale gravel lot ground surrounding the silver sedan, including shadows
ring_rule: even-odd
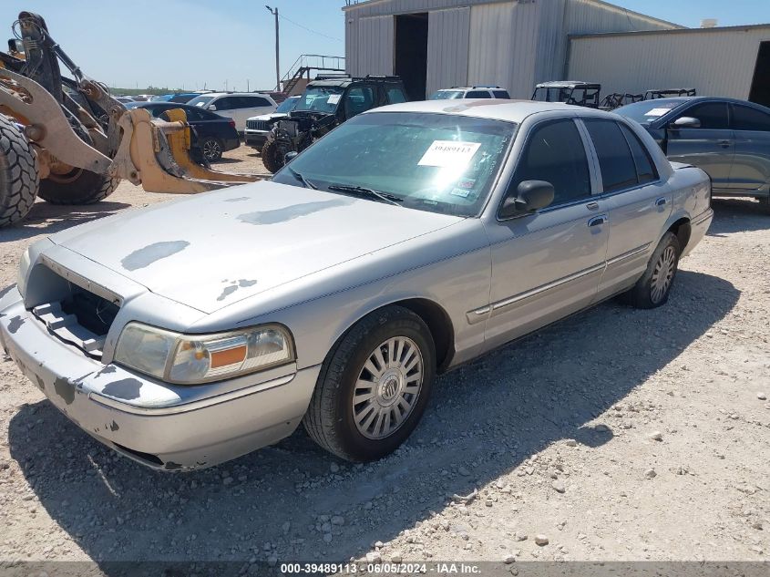
[[[262,172],[251,149],[228,157]],[[37,238],[167,198],[123,183],[93,206],[38,202],[0,232],[0,287]],[[770,217],[755,208],[715,202],[666,306],[602,304],[441,377],[413,438],[373,465],[299,430],[154,472],[0,361],[0,562],[770,560]]]

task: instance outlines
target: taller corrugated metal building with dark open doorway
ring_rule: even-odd
[[[396,74],[415,99],[474,84],[529,98],[564,77],[570,35],[678,27],[600,0],[368,0],[344,16],[346,72]]]

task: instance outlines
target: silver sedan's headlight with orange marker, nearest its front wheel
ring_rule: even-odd
[[[116,363],[180,385],[246,375],[293,360],[292,336],[281,325],[215,335],[180,335],[128,323],[115,351]]]

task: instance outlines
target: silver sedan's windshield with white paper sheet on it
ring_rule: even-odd
[[[476,216],[516,128],[448,114],[362,114],[303,151],[273,180],[303,186],[299,173],[320,190],[364,187],[403,199],[399,204],[406,208]]]

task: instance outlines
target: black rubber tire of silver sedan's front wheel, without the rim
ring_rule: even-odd
[[[380,417],[376,417],[377,424],[373,423],[371,427],[382,428],[384,432],[385,427],[392,421],[395,422],[393,411],[398,411],[403,420],[386,436],[371,438],[364,436],[354,419],[356,407],[362,411],[359,415],[364,414],[365,407],[361,408],[361,406],[370,401],[354,405],[354,394],[356,390],[365,390],[357,385],[357,383],[360,384],[359,378],[366,374],[364,363],[370,361],[370,356],[375,355],[377,349],[381,354],[385,351],[384,354],[389,355],[386,345],[388,340],[393,338],[400,338],[416,345],[421,355],[418,362],[422,362],[422,384],[417,385],[415,395],[409,395],[406,389],[409,388],[409,379],[413,377],[407,376],[406,384],[395,385],[397,392],[392,393],[393,389],[391,389],[392,394],[387,393],[390,398],[385,399],[385,394],[374,395],[375,389],[380,392],[385,391],[393,381],[385,381],[385,379],[373,381],[372,412],[378,412],[379,405],[375,406],[374,403],[379,402],[380,399],[389,401],[391,405],[383,409],[388,413],[386,423],[383,417],[383,425],[380,426]],[[399,347],[395,346],[394,350],[398,351]],[[400,349],[400,354],[403,355],[405,363],[408,363],[406,359],[412,358],[409,356],[406,345]],[[398,365],[397,361],[395,365]],[[327,355],[318,376],[310,406],[303,418],[304,428],[316,443],[342,459],[351,461],[381,459],[398,448],[416,428],[425,412],[435,376],[436,347],[425,322],[401,306],[385,307],[368,314],[354,325]],[[410,403],[411,407],[410,410],[405,409],[403,413],[400,408],[402,397],[406,403]],[[366,415],[371,414],[366,413]],[[362,420],[365,422],[367,418]]]

